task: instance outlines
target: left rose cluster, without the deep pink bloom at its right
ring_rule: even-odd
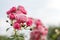
[[[27,21],[26,14],[23,6],[12,7],[7,11],[7,16],[12,21],[13,28],[17,30],[21,29],[22,24]]]

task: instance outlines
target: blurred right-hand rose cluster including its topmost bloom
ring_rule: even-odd
[[[36,20],[36,27],[30,34],[30,40],[46,40],[48,29],[40,22]]]

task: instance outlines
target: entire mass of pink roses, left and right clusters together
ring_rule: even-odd
[[[40,36],[46,36],[48,29],[42,24],[41,20],[27,17],[27,11],[23,6],[12,7],[7,11],[8,18],[12,21],[12,26],[16,30],[22,27],[32,27],[31,40],[39,40]],[[34,38],[33,38],[34,37]]]

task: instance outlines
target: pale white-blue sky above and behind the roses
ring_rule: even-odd
[[[1,30],[9,25],[5,22],[7,19],[6,11],[12,6],[18,5],[23,5],[28,16],[41,19],[45,25],[60,24],[60,0],[0,0]],[[1,33],[3,32],[1,31]]]

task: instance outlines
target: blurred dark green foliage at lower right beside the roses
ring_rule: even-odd
[[[55,32],[56,29],[60,32],[60,26],[49,26],[48,40],[57,40],[57,38],[60,36],[60,33],[57,34]]]

